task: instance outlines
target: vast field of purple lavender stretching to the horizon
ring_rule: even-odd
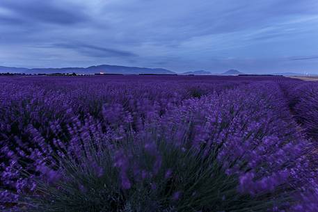
[[[318,82],[0,77],[2,211],[318,211]]]

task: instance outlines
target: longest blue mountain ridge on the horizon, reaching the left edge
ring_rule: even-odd
[[[120,65],[97,65],[90,67],[62,67],[62,68],[16,68],[16,67],[0,67],[0,72],[6,73],[25,73],[25,74],[97,74],[103,72],[104,74],[176,74],[170,70],[162,68],[148,68],[148,67],[127,67]]]

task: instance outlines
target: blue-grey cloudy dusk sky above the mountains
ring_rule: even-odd
[[[0,1],[0,65],[100,64],[318,73],[318,1]]]

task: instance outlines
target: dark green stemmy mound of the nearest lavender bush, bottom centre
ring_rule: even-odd
[[[201,158],[153,134],[138,137],[62,161],[61,179],[52,173],[37,181],[21,201],[30,211],[263,211],[275,203],[240,194],[237,178],[212,155]]]

